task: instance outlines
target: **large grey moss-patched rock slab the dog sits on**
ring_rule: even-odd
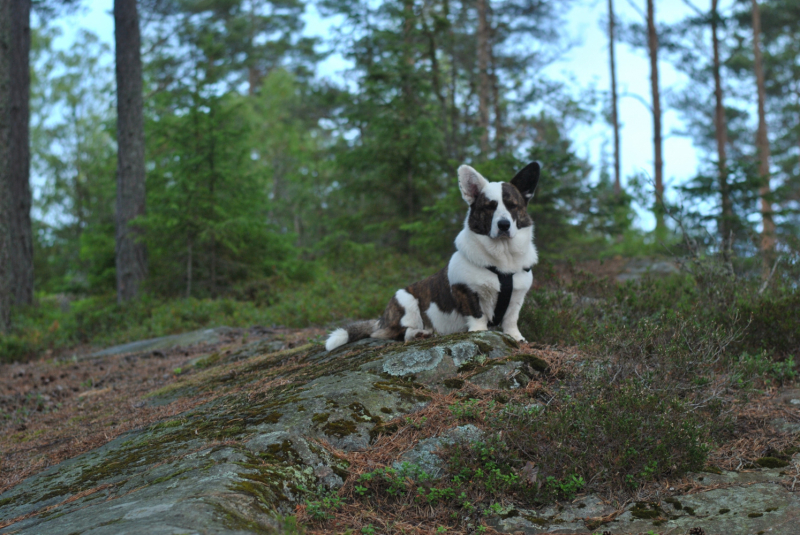
[[[274,351],[253,343],[197,359],[148,398],[207,402],[50,467],[0,495],[0,533],[274,532],[306,489],[335,489],[347,465],[320,447],[368,448],[424,407],[458,367],[506,357],[494,332],[398,344],[362,340]]]

